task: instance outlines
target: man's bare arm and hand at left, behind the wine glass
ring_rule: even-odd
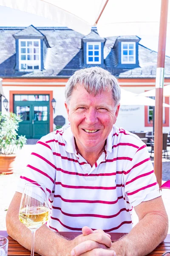
[[[21,245],[31,250],[31,231],[19,220],[21,197],[22,194],[16,192],[8,208],[6,215],[7,233]],[[105,233],[80,235],[74,240],[68,241],[44,224],[35,233],[34,250],[43,256],[70,256],[72,248],[86,240],[97,242],[97,247],[111,247],[111,239]]]

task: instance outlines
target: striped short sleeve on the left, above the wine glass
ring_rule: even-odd
[[[50,144],[50,145],[49,145]],[[46,137],[35,145],[25,172],[20,176],[16,191],[23,193],[24,185],[28,182],[44,183],[48,196],[54,190],[56,177],[56,158]]]

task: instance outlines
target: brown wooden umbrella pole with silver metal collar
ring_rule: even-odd
[[[155,103],[155,136],[154,136],[154,172],[157,182],[162,181],[162,113],[163,113],[163,87],[164,87],[164,61],[167,35],[168,0],[161,0],[161,16],[159,26],[159,44],[156,69],[156,103]]]

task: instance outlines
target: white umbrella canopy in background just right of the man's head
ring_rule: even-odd
[[[120,105],[155,106],[155,100],[141,96],[141,94],[131,93],[121,88]],[[170,108],[170,105],[163,103],[163,107]]]

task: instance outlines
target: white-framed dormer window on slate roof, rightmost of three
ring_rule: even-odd
[[[136,42],[121,42],[121,64],[136,64]]]

